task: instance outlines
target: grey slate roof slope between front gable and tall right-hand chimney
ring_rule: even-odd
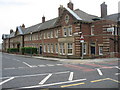
[[[98,17],[98,16],[88,14],[79,9],[74,10],[74,12],[82,19],[82,21],[93,22],[94,21],[93,19],[95,19],[95,18],[100,19],[100,17]]]

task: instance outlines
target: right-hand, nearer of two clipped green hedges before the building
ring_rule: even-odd
[[[22,54],[37,54],[37,48],[35,47],[22,47]]]

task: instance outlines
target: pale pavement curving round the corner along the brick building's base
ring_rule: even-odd
[[[97,58],[97,59],[62,59],[62,58],[51,58],[43,56],[29,56],[29,55],[18,55],[26,58],[35,58],[41,60],[50,60],[50,61],[61,61],[64,63],[70,64],[84,64],[84,63],[94,63],[94,62],[110,62],[110,61],[120,61],[120,58]]]

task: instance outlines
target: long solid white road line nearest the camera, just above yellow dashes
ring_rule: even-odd
[[[51,83],[51,84],[44,84],[44,85],[36,85],[36,86],[28,86],[28,87],[21,87],[18,89],[27,89],[27,88],[38,88],[38,87],[45,87],[45,86],[54,86],[54,85],[60,85],[60,84],[66,84],[66,83],[73,83],[73,82],[79,82],[79,81],[85,81],[85,79],[78,79],[73,81],[65,81],[65,82],[58,82],[58,83]]]

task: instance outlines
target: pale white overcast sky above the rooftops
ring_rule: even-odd
[[[70,0],[0,0],[0,43],[2,34],[9,34],[10,29],[17,26],[25,27],[42,22],[44,15],[47,20],[58,17],[58,7],[67,7]],[[74,9],[80,9],[100,17],[100,4],[105,2],[108,6],[108,15],[118,13],[120,0],[71,0]],[[119,4],[120,5],[120,4]],[[120,8],[120,7],[119,7]]]

